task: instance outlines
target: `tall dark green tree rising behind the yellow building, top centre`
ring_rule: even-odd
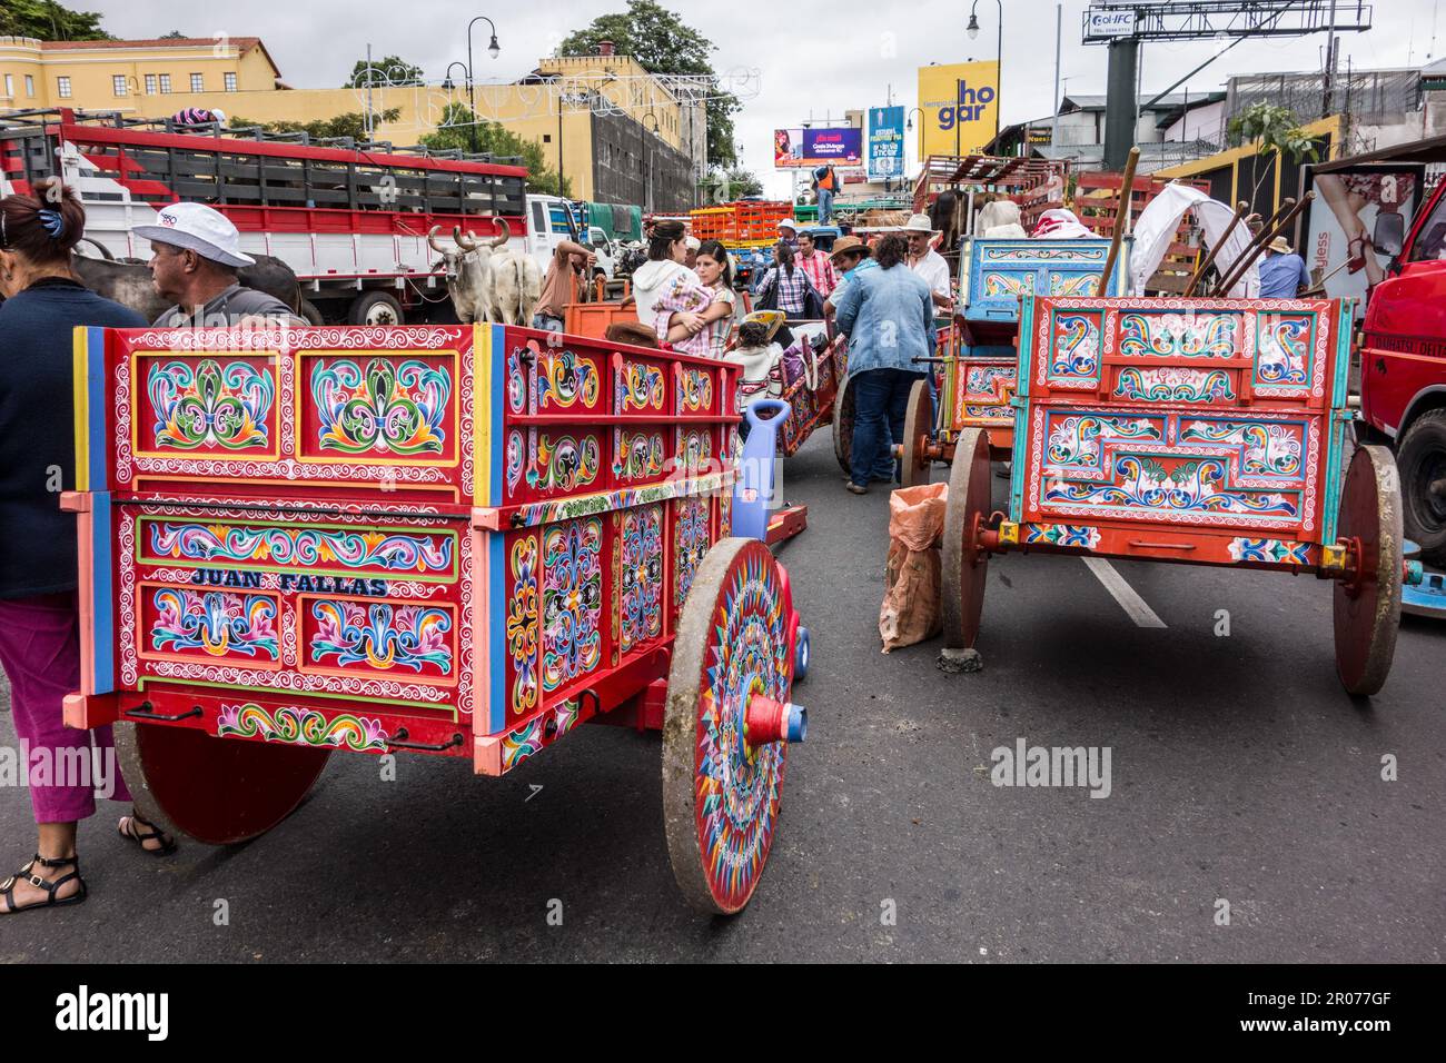
[[[719,166],[737,162],[733,146],[733,114],[742,108],[737,97],[719,88],[710,54],[717,46],[677,14],[654,0],[628,0],[628,10],[602,14],[587,29],[562,39],[558,55],[597,55],[597,46],[612,40],[620,55],[630,55],[649,74],[691,74],[710,78],[704,108],[709,121],[707,158]]]

